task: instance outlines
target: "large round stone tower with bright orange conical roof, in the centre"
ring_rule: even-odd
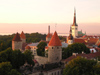
[[[56,63],[60,62],[62,59],[62,45],[61,41],[57,35],[57,32],[54,32],[49,44],[48,44],[48,62]]]

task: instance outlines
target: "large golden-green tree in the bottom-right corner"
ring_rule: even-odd
[[[71,60],[65,67],[63,75],[95,75],[96,61],[77,57]],[[100,69],[100,68],[98,68]],[[100,73],[100,70],[98,70]]]

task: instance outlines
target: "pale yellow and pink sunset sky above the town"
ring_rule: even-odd
[[[0,34],[69,33],[74,8],[78,30],[100,32],[100,0],[0,0]]]

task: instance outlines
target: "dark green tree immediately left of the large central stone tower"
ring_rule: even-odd
[[[45,56],[45,46],[47,46],[47,43],[46,42],[40,42],[38,44],[38,49],[37,49],[37,54],[39,56]]]

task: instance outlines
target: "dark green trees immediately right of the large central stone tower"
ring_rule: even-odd
[[[72,56],[72,53],[90,53],[89,48],[85,46],[85,44],[82,43],[73,43],[71,45],[68,45],[67,48],[62,48],[62,58],[66,59],[70,56]]]

